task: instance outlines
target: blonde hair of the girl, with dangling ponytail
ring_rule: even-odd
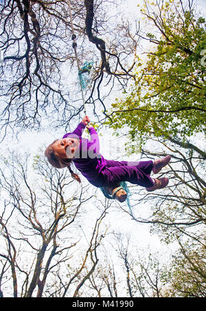
[[[58,139],[54,140],[54,142],[56,142],[57,140]],[[69,172],[71,173],[71,177],[73,179],[76,179],[78,182],[81,182],[80,177],[76,173],[73,173],[71,169],[72,160],[69,158],[65,160],[58,158],[58,155],[54,151],[54,142],[52,142],[52,144],[50,144],[45,150],[45,156],[47,157],[48,162],[56,169],[63,169],[64,167],[67,167],[67,169],[69,169]]]

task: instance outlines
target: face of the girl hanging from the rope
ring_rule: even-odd
[[[64,159],[73,159],[75,153],[80,145],[80,142],[76,138],[62,138],[56,140],[53,144],[54,151],[58,153],[58,157],[61,160]]]

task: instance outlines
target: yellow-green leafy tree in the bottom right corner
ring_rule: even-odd
[[[180,249],[174,253],[168,267],[170,297],[205,297],[205,243],[199,239],[187,240],[177,237]],[[167,293],[167,294],[166,294]]]

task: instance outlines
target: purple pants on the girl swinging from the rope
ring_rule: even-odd
[[[153,167],[153,161],[113,161],[106,160],[107,166],[102,170],[101,177],[95,186],[117,186],[119,182],[130,182],[142,187],[152,187],[154,185],[150,173]]]

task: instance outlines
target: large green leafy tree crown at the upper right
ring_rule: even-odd
[[[135,84],[113,103],[111,126],[129,127],[132,139],[190,136],[205,129],[205,18],[192,1],[144,2],[146,58],[137,56]],[[152,23],[152,25],[150,25]],[[119,116],[121,116],[119,118]]]

